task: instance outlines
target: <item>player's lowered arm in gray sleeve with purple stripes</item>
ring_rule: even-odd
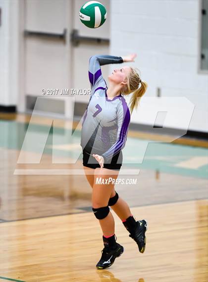
[[[110,163],[114,155],[122,150],[126,143],[127,132],[130,123],[130,112],[124,98],[122,98],[122,106],[117,111],[117,141],[103,155],[104,163]]]

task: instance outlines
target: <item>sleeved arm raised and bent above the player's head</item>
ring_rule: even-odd
[[[101,65],[110,64],[110,63],[122,63],[123,59],[119,56],[110,56],[110,55],[95,55],[90,57],[89,61],[89,80],[91,84],[91,92],[95,90],[100,84],[104,81]],[[93,93],[92,93],[93,94]]]

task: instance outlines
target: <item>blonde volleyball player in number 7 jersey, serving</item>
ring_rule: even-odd
[[[98,179],[116,180],[122,166],[122,149],[125,146],[130,123],[130,112],[138,107],[138,100],[145,94],[147,83],[142,81],[136,68],[116,68],[108,76],[109,87],[103,78],[101,65],[134,61],[136,54],[129,56],[92,56],[89,61],[91,97],[84,114],[81,132],[83,166],[92,189],[92,210],[103,231],[104,249],[97,269],[111,266],[123,253],[123,246],[115,239],[114,219],[109,206],[129,231],[129,236],[144,253],[147,222],[136,221],[128,204],[114,190],[114,184],[98,184]],[[132,93],[133,92],[133,93]],[[130,95],[130,110],[124,99]],[[93,173],[88,173],[88,170]],[[111,174],[113,171],[113,174]],[[104,181],[104,183],[106,183]]]

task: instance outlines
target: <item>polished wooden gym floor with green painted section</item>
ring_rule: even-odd
[[[140,169],[139,175],[119,176],[137,183],[115,187],[135,218],[149,223],[146,250],[139,253],[112,211],[124,253],[109,269],[97,270],[103,242],[91,212],[91,187],[83,174],[60,172],[82,169],[82,156],[76,164],[65,162],[80,150],[80,136],[73,146],[67,144],[69,121],[56,119],[40,164],[18,164],[29,121],[26,114],[0,114],[0,282],[208,281],[206,141],[161,143],[169,137],[129,132],[130,146],[123,151],[127,163],[137,162],[136,148],[160,142],[148,145],[142,164],[130,166]],[[31,136],[38,140],[50,122],[33,117]],[[52,134],[59,140],[53,151],[58,164],[52,163]],[[23,152],[31,160],[40,153],[36,143]]]

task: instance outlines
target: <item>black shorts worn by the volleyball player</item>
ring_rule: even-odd
[[[101,168],[98,161],[90,155],[85,149],[82,151],[83,154],[83,166],[96,169]],[[99,154],[98,154],[99,155]],[[88,164],[89,162],[89,164]],[[122,151],[119,151],[115,156],[112,157],[112,160],[109,164],[104,163],[104,169],[113,169],[113,170],[120,170],[123,162],[123,154]]]

